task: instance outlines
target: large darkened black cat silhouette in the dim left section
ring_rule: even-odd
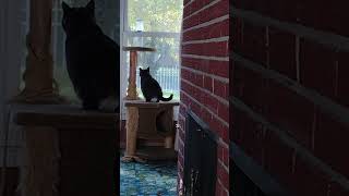
[[[96,24],[93,0],[82,8],[62,2],[62,8],[69,76],[83,109],[97,110],[107,97],[120,97],[120,46]]]

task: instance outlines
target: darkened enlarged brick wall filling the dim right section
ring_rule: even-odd
[[[231,139],[297,196],[349,195],[347,1],[232,3],[230,91],[288,142],[237,105]]]

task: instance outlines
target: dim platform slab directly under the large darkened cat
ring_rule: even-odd
[[[14,123],[28,126],[110,130],[119,123],[118,113],[84,111],[72,105],[13,105],[11,112]]]

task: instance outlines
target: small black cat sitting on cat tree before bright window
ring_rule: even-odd
[[[147,102],[149,102],[153,98],[156,99],[156,102],[161,101],[170,101],[173,98],[173,94],[170,97],[164,98],[163,90],[159,83],[152,77],[149,73],[149,68],[146,70],[142,70],[140,68],[140,76],[141,76],[141,89],[143,96]]]

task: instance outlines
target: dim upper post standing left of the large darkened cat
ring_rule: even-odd
[[[51,54],[52,0],[31,0],[29,33],[26,38],[27,58],[23,75],[24,90],[13,101],[28,103],[59,103],[53,79]]]

